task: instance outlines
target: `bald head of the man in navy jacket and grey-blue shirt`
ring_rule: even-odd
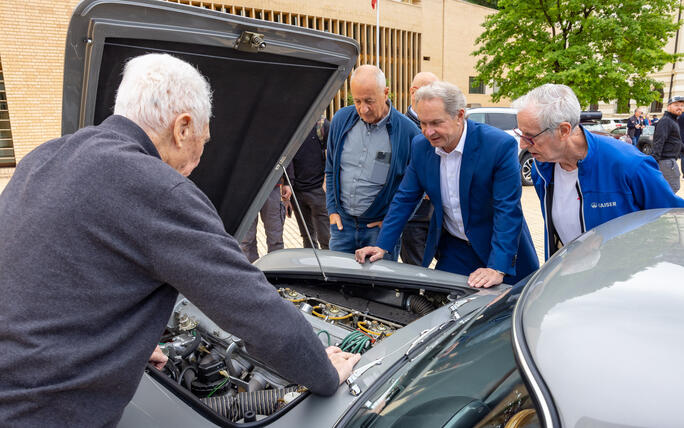
[[[352,73],[354,107],[366,123],[377,123],[389,112],[385,73],[374,65],[362,65]]]

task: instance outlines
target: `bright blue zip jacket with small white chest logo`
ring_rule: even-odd
[[[577,162],[582,232],[634,211],[684,207],[672,192],[658,164],[631,144],[588,132],[587,156]],[[532,181],[544,216],[544,254],[551,257],[561,246],[551,216],[553,162],[534,161]]]

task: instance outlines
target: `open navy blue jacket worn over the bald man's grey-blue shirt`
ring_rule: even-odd
[[[397,191],[399,183],[401,183],[401,179],[406,172],[406,166],[411,155],[411,139],[420,134],[420,130],[416,128],[416,125],[406,116],[399,113],[391,104],[389,114],[387,133],[392,145],[390,170],[385,186],[375,197],[375,200],[366,212],[359,216],[359,221],[365,223],[380,221],[387,214],[392,197],[394,197],[394,193]],[[356,107],[348,106],[335,113],[330,124],[328,153],[325,160],[325,199],[328,215],[344,212],[340,203],[340,159],[347,133],[356,125],[359,119]]]

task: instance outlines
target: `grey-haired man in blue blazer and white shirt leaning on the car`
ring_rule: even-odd
[[[465,119],[465,97],[435,82],[415,95],[422,136],[385,216],[376,247],[356,251],[375,261],[393,248],[423,193],[435,211],[423,266],[468,275],[472,287],[514,284],[539,267],[520,205],[522,192],[513,137]]]

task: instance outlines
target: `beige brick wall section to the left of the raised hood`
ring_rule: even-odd
[[[64,43],[77,3],[0,1],[0,61],[17,161],[60,135]],[[0,168],[0,177],[13,171]]]

